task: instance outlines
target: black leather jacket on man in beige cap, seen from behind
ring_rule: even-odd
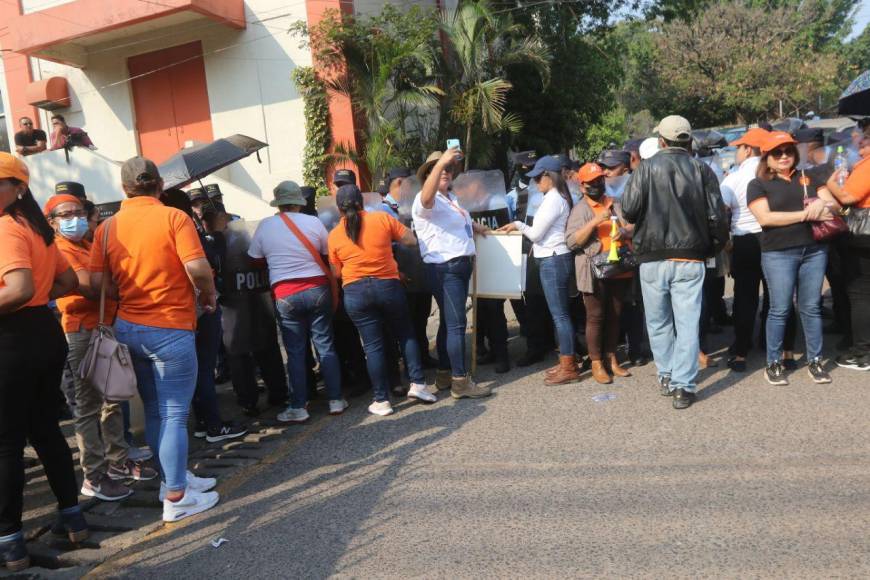
[[[728,241],[719,181],[685,149],[662,149],[641,162],[625,187],[622,213],[635,224],[640,262],[703,260]]]

